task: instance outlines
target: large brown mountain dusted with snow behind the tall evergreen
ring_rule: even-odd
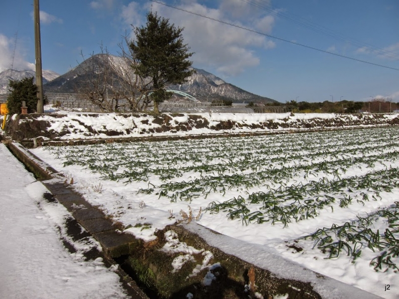
[[[125,71],[129,69],[126,62],[118,56],[109,55],[108,59],[109,61],[107,61],[106,54],[93,55],[69,72],[45,84],[43,88],[46,92],[74,93],[76,92],[77,87],[83,86],[84,82],[87,82],[88,78],[93,78],[94,73],[99,74],[102,69],[107,67],[109,62]],[[92,72],[91,75],[87,73],[88,69]],[[186,92],[201,101],[226,99],[233,102],[245,101],[246,103],[249,103],[253,101],[262,103],[278,103],[273,99],[247,92],[202,69],[195,70],[196,72],[188,78],[188,81],[185,84],[169,85],[168,88]],[[110,71],[109,77],[117,78],[118,75],[115,72]],[[116,86],[118,83],[113,82],[113,85]]]

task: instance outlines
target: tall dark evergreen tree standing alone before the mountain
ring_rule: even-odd
[[[171,97],[165,91],[166,84],[183,84],[194,72],[189,69],[193,62],[188,60],[194,53],[189,53],[190,47],[183,42],[183,29],[152,11],[147,14],[146,27],[134,28],[136,40],[129,47],[139,63],[133,69],[152,79],[155,113],[159,113],[158,104]]]

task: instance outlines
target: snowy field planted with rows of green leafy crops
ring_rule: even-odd
[[[31,151],[138,238],[197,221],[379,296],[399,293],[398,128]]]

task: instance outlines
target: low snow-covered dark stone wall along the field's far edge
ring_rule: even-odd
[[[28,114],[10,118],[6,132],[15,141],[67,144],[186,135],[269,134],[335,128],[399,125],[399,114]]]

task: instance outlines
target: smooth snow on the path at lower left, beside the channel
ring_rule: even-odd
[[[84,260],[87,246],[99,245],[92,240],[69,253],[56,229],[66,209],[43,199],[47,189],[3,144],[0,157],[0,298],[128,298],[101,258]]]

